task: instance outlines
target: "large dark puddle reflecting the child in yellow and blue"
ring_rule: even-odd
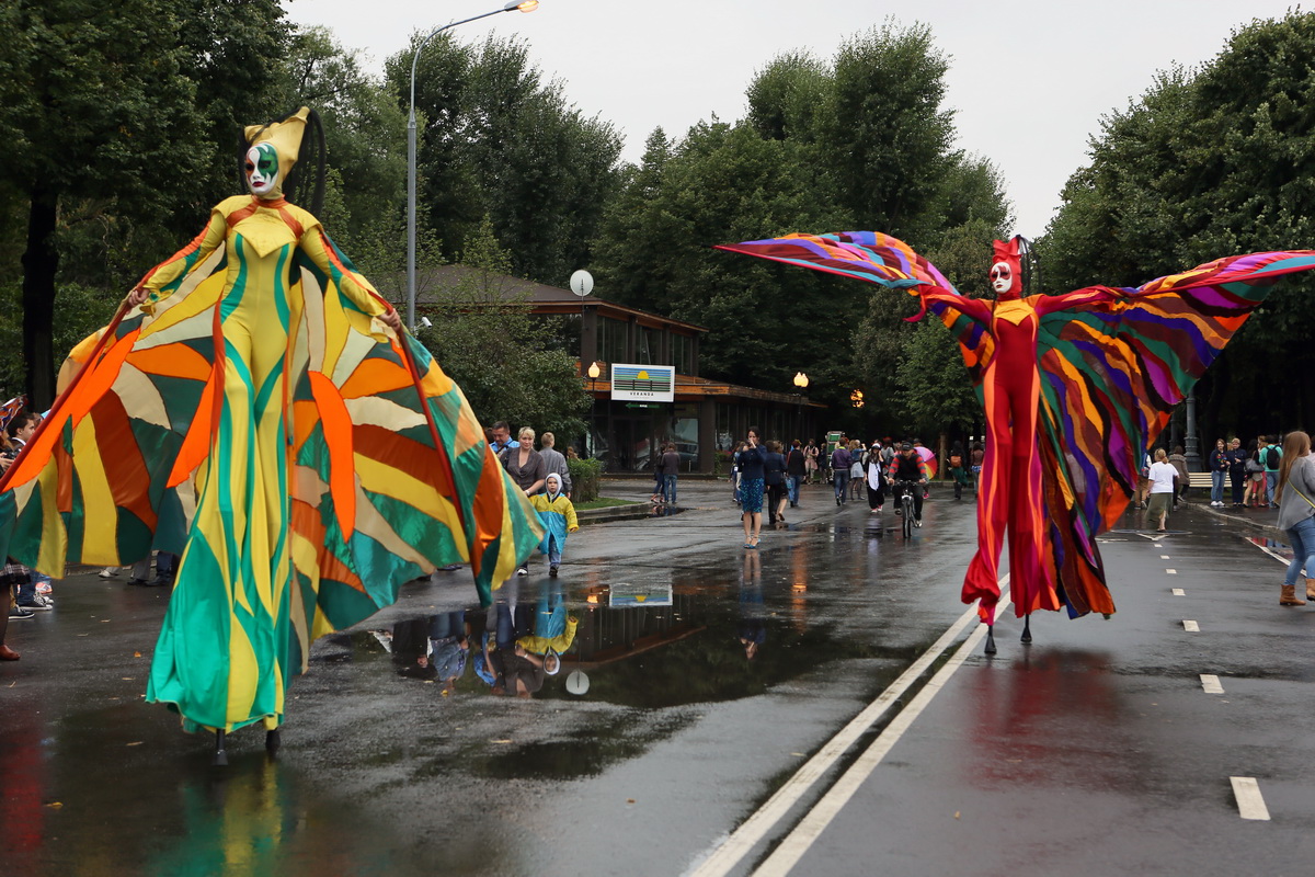
[[[648,577],[602,582],[585,568],[583,580],[513,580],[489,609],[331,635],[313,660],[372,664],[435,693],[660,709],[752,697],[826,661],[881,653],[806,623],[806,554],[765,581],[757,552],[714,569],[635,572]],[[540,671],[556,651],[559,672]]]

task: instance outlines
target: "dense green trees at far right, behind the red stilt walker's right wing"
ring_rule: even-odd
[[[1103,121],[1043,242],[1048,287],[1136,285],[1220,256],[1315,238],[1315,14],[1239,29],[1212,62],[1161,74]],[[1057,287],[1057,288],[1056,288]],[[1308,279],[1283,280],[1198,385],[1206,433],[1308,425]]]

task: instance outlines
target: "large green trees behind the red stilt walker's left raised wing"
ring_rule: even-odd
[[[952,254],[957,268],[972,241],[984,281],[990,239],[1011,214],[995,170],[949,149],[945,68],[926,28],[886,25],[831,63],[807,53],[769,62],[748,85],[743,122],[704,121],[679,141],[654,131],[604,217],[600,295],[706,326],[706,376],[789,392],[802,369],[810,397],[849,421],[839,426],[893,429],[903,417],[897,364],[914,337],[909,296],[709,246],[876,229]],[[863,409],[849,405],[853,389]]]

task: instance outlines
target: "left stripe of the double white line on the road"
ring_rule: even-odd
[[[999,617],[999,614],[1003,613],[1010,604],[1007,590],[1009,573],[999,577],[999,586],[1001,600],[995,606],[997,617]],[[853,717],[849,723],[846,724],[839,734],[827,740],[826,746],[823,746],[817,755],[809,759],[793,777],[786,780],[785,785],[777,789],[776,794],[767,799],[767,803],[759,807],[757,811],[746,819],[739,828],[731,832],[730,836],[713,849],[706,859],[700,861],[697,868],[688,870],[688,877],[723,877],[725,874],[731,873],[740,860],[752,852],[753,847],[756,847],[757,843],[765,838],[782,818],[785,818],[790,809],[794,807],[794,805],[798,803],[800,799],[803,798],[803,795],[807,794],[809,790],[832,767],[835,767],[835,763],[846,753],[846,751],[864,734],[867,734],[868,730],[876,724],[892,706],[894,706],[898,698],[902,697],[905,692],[907,692],[914,682],[917,682],[918,678],[920,678],[922,675],[945,653],[953,642],[959,639],[963,630],[968,627],[968,625],[977,621],[977,607],[969,606],[968,610],[964,611],[964,614],[960,615],[957,621],[955,621],[955,623],[951,625],[945,632],[942,634],[940,638],[918,657],[918,660],[909,665],[909,669],[901,673],[899,677],[896,678],[889,688],[886,688],[886,690],[877,696],[877,699]],[[969,634],[968,640],[965,640],[965,646],[980,642],[982,636],[985,636],[985,631],[986,626],[977,623],[977,630]],[[960,647],[960,652],[963,652],[963,650],[964,647]],[[953,660],[955,659],[952,657],[951,664]],[[963,659],[959,660],[959,664],[961,663]],[[959,667],[959,664],[955,664],[955,667]],[[945,667],[949,667],[949,664]],[[944,675],[945,667],[943,667],[936,676],[927,682],[923,692],[926,692],[927,688]],[[940,682],[940,685],[944,685],[944,682]],[[940,686],[938,685],[936,690],[939,690],[939,688]],[[919,693],[918,697],[922,697],[922,694]],[[892,724],[882,731],[882,736],[890,731],[890,727],[894,727],[894,724],[899,721],[899,717],[905,715],[905,713],[907,713],[915,702],[917,698],[901,710],[894,722],[892,722]],[[880,742],[881,736],[878,736],[877,740]],[[796,831],[798,831],[798,828],[796,828]]]

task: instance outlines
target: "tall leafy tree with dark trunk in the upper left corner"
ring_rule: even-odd
[[[26,213],[22,352],[34,405],[54,397],[60,209],[95,213],[112,205],[110,213],[151,224],[179,204],[205,201],[220,167],[213,126],[235,105],[221,107],[210,88],[252,82],[255,74],[235,70],[234,62],[277,63],[277,51],[260,55],[277,36],[268,29],[255,34],[252,55],[229,49],[252,38],[239,24],[258,18],[276,28],[280,17],[272,0],[124,0],[112,8],[13,0],[0,7],[0,26],[9,34],[0,42],[0,134],[9,143],[0,183]]]

